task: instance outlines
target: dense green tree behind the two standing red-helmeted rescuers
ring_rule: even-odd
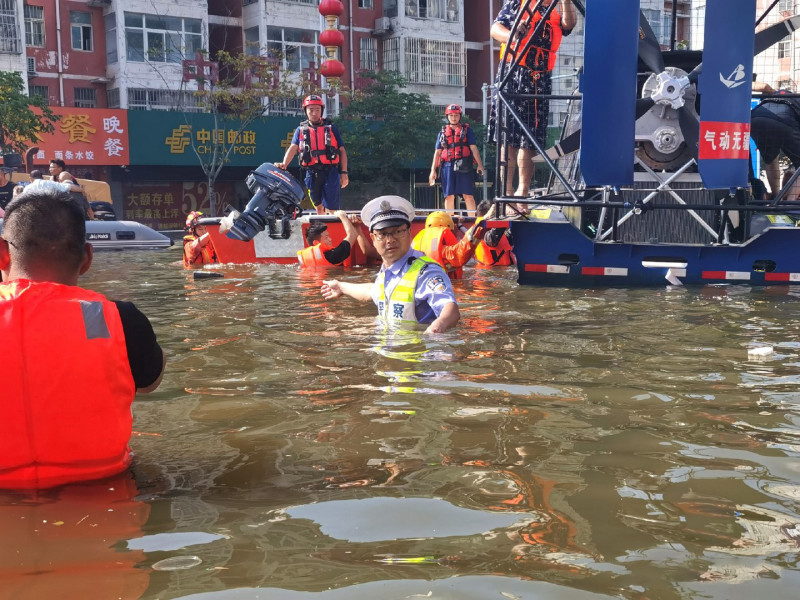
[[[350,96],[341,114],[350,178],[396,181],[398,172],[433,156],[441,115],[427,94],[403,92],[396,72],[366,73],[369,85]]]

